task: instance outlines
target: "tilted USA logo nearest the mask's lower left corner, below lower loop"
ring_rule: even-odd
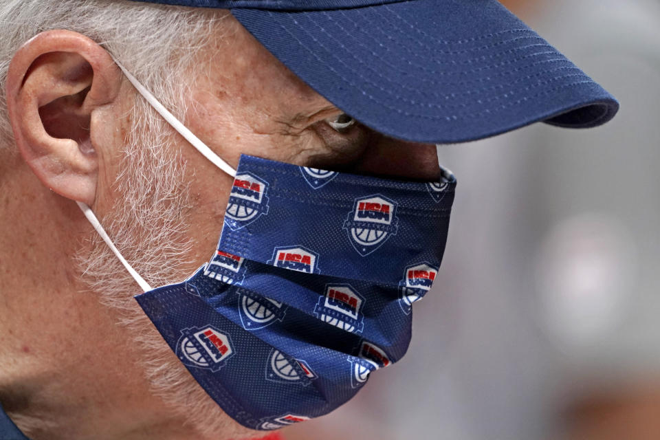
[[[177,356],[184,364],[210,371],[218,371],[234,355],[228,334],[208,325],[181,330],[177,342]]]

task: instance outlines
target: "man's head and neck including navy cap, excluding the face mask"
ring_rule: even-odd
[[[208,261],[223,225],[232,178],[137,95],[113,57],[234,167],[248,154],[430,181],[434,145],[366,125],[459,142],[538,120],[594,126],[618,108],[496,1],[311,8],[321,3],[333,14],[273,2],[276,15],[261,1],[232,15],[124,0],[0,6],[0,401],[34,440],[250,435],[162,341],[132,298],[133,278],[74,203],[91,206],[153,286]]]

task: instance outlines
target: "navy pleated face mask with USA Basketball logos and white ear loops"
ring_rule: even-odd
[[[331,412],[401,359],[412,305],[438,274],[453,175],[419,183],[246,155],[234,171],[124,74],[234,177],[217,249],[186,281],[151,289],[115,252],[208,395],[243,426],[274,430]]]

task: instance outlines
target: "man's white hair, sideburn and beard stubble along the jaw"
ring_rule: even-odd
[[[0,83],[19,47],[39,32],[67,29],[105,47],[152,93],[181,118],[197,50],[217,36],[226,12],[203,8],[136,3],[124,0],[0,0]],[[186,210],[186,167],[170,153],[173,130],[146,101],[135,95],[124,159],[115,182],[121,195],[111,214],[100,219],[120,252],[151,285],[177,283],[190,265]],[[14,144],[4,87],[0,91],[0,152]],[[235,439],[249,432],[231,421],[177,360],[137,306],[131,276],[96,233],[77,256],[83,281],[104,305],[120,312],[120,323],[137,335],[133,344],[153,392],[186,417],[205,437]],[[91,250],[90,250],[91,249]],[[34,428],[39,421],[31,421]],[[191,437],[192,438],[192,437]]]

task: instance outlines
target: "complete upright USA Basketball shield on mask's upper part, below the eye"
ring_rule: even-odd
[[[362,256],[380,248],[392,235],[397,234],[399,218],[397,203],[382,195],[371,195],[355,200],[353,211],[344,222],[344,229],[356,251]]]

